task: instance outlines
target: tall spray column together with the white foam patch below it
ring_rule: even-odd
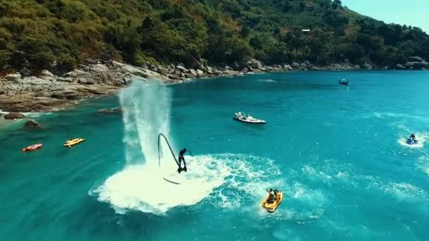
[[[179,174],[166,142],[160,144],[158,160],[159,133],[169,139],[169,89],[156,81],[133,82],[121,91],[119,99],[123,109],[126,166],[89,192],[100,202],[111,204],[119,214],[128,210],[165,214],[176,206],[191,206],[203,199],[221,208],[239,206],[243,200],[258,194],[255,189],[267,187],[272,173],[279,173],[270,159],[209,154],[186,156],[188,172]],[[162,164],[158,165],[159,162]],[[262,167],[265,171],[260,171]],[[166,177],[180,185],[167,182]]]

